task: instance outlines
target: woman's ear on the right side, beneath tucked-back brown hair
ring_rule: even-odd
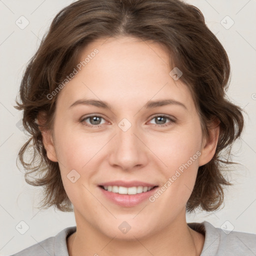
[[[219,119],[215,118],[208,128],[209,138],[206,139],[206,137],[203,137],[199,166],[209,162],[216,151],[219,136],[219,123]]]

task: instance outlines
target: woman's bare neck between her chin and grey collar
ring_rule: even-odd
[[[67,239],[69,256],[199,256],[204,243],[204,235],[188,227],[186,221],[174,222],[160,232],[142,238],[133,236],[134,239],[129,240],[109,237],[88,222],[76,226],[76,232]]]

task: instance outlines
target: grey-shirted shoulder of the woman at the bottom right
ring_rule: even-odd
[[[205,233],[200,256],[256,255],[256,234],[221,229],[207,221],[188,225],[193,229],[203,229]]]

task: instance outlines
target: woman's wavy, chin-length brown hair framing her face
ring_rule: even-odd
[[[240,136],[242,109],[226,98],[230,64],[225,49],[206,26],[201,11],[179,0],[78,0],[60,10],[43,36],[39,48],[23,73],[18,110],[23,110],[23,127],[29,133],[18,159],[28,184],[44,188],[41,208],[55,206],[72,211],[64,190],[58,162],[47,158],[36,120],[43,112],[42,128],[53,128],[57,96],[47,97],[79,62],[79,53],[97,38],[134,36],[165,45],[171,53],[170,66],[182,71],[180,79],[191,91],[208,138],[209,124],[219,119],[220,133],[213,158],[199,166],[186,210],[200,207],[216,210],[223,202],[223,186],[231,183],[222,174]],[[172,69],[171,68],[171,69]],[[170,70],[171,70],[170,69]],[[31,152],[27,152],[29,148]],[[25,161],[25,153],[31,157]],[[226,156],[226,158],[223,157]],[[29,179],[34,173],[36,178]]]

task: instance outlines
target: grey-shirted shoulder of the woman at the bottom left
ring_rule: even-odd
[[[55,236],[48,237],[10,256],[68,256],[66,238],[75,230],[76,226],[66,227]]]

